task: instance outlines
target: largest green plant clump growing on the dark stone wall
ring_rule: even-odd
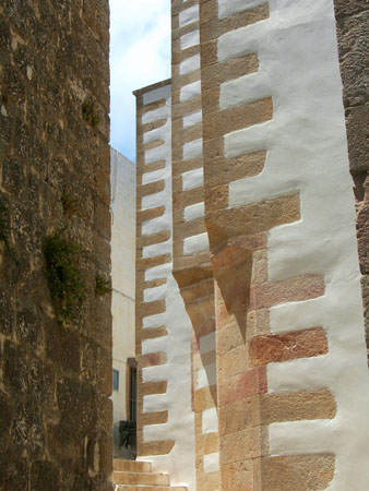
[[[60,322],[75,318],[86,298],[82,274],[78,267],[79,252],[80,248],[62,239],[61,232],[45,239],[46,276]]]

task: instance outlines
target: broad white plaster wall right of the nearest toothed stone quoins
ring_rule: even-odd
[[[219,15],[263,3],[219,0]],[[229,184],[229,206],[299,193],[301,218],[269,235],[269,277],[321,274],[321,298],[272,308],[272,332],[324,327],[323,357],[272,363],[269,391],[329,387],[333,420],[273,423],[273,455],[332,452],[330,491],[369,483],[369,371],[355,231],[355,206],[332,0],[270,0],[271,17],[225,34],[218,60],[255,52],[260,71],[222,85],[221,106],[272,96],[272,121],[225,136],[228,157],[266,149],[263,171]]]

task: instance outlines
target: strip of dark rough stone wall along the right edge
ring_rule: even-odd
[[[369,359],[369,2],[335,0],[334,3]]]

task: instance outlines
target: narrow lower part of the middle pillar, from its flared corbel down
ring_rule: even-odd
[[[175,208],[176,209],[176,208]],[[178,208],[177,208],[178,209]],[[180,263],[177,261],[177,265]],[[195,415],[197,489],[211,491],[219,487],[217,432],[216,354],[214,324],[214,280],[209,263],[188,263],[175,271],[187,312],[193,327],[192,342],[192,408]],[[213,338],[213,344],[211,338]],[[214,379],[212,379],[214,373]],[[209,411],[209,429],[203,433]]]

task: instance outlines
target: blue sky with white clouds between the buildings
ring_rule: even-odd
[[[132,91],[170,77],[170,0],[109,0],[110,145],[135,161]]]

